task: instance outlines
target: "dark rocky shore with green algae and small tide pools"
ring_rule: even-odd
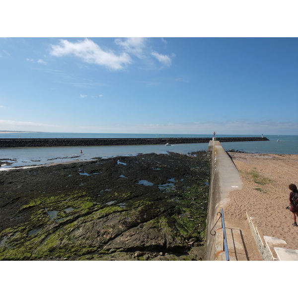
[[[0,172],[0,260],[204,260],[210,153]]]

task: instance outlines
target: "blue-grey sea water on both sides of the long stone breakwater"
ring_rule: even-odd
[[[213,135],[170,135],[170,134],[75,134],[75,133],[0,133],[0,138],[212,138]],[[256,137],[255,135],[217,135],[217,137]],[[251,153],[298,154],[298,136],[264,136],[270,141],[222,142],[225,150],[234,149]],[[86,146],[86,147],[30,147],[0,148],[1,170],[49,163],[87,161],[96,157],[129,156],[139,153],[177,152],[187,154],[207,150],[208,143],[134,146]],[[83,153],[80,153],[80,150]],[[7,163],[6,163],[7,162]]]

